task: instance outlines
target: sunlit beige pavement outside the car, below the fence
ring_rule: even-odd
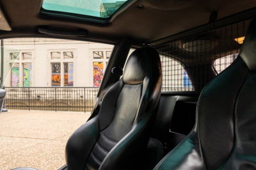
[[[8,109],[0,113],[0,169],[59,169],[65,165],[68,138],[89,117],[89,112]]]

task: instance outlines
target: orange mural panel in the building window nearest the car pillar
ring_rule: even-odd
[[[104,75],[103,62],[93,62],[93,87],[99,87]]]

